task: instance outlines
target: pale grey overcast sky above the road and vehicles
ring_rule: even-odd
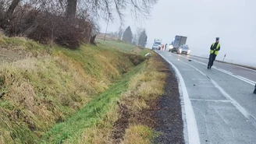
[[[209,47],[220,37],[218,59],[256,67],[256,1],[255,0],[159,0],[151,18],[137,23],[126,16],[123,28],[144,27],[148,47],[155,38],[169,44],[175,35],[187,36],[191,53],[208,56]],[[101,22],[105,32],[106,23]],[[110,23],[108,32],[118,30],[119,22]]]

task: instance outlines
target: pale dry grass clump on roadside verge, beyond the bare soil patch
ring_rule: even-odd
[[[162,65],[161,62],[150,58],[148,65],[141,70],[139,74],[130,79],[129,91],[123,93],[123,103],[131,111],[141,111],[148,108],[146,102],[151,99],[156,99],[163,93],[163,86],[165,84],[165,73],[158,72],[155,65]]]

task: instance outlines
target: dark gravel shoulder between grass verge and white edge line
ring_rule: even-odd
[[[162,60],[165,62],[164,60]],[[184,143],[183,138],[183,119],[180,105],[179,85],[175,72],[170,65],[165,62],[169,68],[166,71],[165,93],[157,101],[157,110],[155,111],[155,121],[157,125],[155,130],[162,133],[155,138],[155,143]]]

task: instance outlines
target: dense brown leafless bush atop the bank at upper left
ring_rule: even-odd
[[[0,19],[7,5],[0,1]],[[8,23],[5,23],[5,33],[8,36],[29,37],[42,44],[56,43],[71,49],[78,48],[82,42],[89,43],[96,27],[88,14],[77,12],[76,18],[69,20],[65,16],[64,6],[55,1],[22,2],[16,6]]]

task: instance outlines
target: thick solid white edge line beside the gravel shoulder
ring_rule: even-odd
[[[162,56],[162,54],[159,54],[159,55]],[[186,121],[187,121],[188,141],[190,144],[200,144],[200,138],[199,138],[198,129],[197,129],[197,121],[194,115],[194,110],[190,101],[190,97],[188,96],[188,93],[187,93],[187,87],[184,83],[183,77],[181,76],[179,69],[176,68],[176,66],[173,65],[171,61],[166,59],[164,56],[162,56],[162,58],[164,58],[165,61],[169,62],[169,64],[172,65],[172,68],[174,68],[176,75],[178,76],[180,81],[184,107],[185,107]]]

